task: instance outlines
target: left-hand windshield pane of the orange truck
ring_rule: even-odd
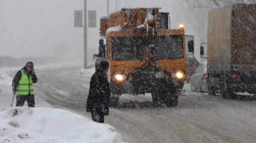
[[[142,60],[144,37],[114,37],[111,39],[113,60]]]

